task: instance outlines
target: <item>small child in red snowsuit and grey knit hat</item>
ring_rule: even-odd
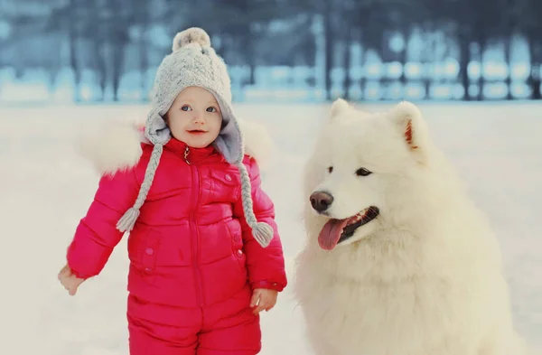
[[[137,162],[111,152],[126,161],[101,177],[59,279],[75,294],[130,231],[130,354],[257,354],[259,312],[285,288],[285,261],[226,65],[191,28],[175,36],[154,85],[150,144],[136,141]]]

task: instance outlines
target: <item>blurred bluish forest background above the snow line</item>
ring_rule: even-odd
[[[540,99],[542,0],[0,0],[0,104],[145,102],[201,26],[234,99]]]

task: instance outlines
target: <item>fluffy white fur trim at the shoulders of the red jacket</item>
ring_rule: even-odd
[[[253,157],[261,171],[266,170],[273,141],[263,124],[238,118],[245,154]],[[81,126],[74,142],[77,153],[93,164],[98,174],[115,173],[134,166],[143,153],[141,143],[149,144],[141,131],[144,122],[130,119],[100,119]]]

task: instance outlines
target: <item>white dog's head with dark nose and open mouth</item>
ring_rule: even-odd
[[[338,99],[330,116],[305,171],[307,207],[323,223],[318,241],[327,250],[386,228],[392,213],[416,209],[414,185],[424,180],[430,144],[420,111],[408,102],[371,114]]]

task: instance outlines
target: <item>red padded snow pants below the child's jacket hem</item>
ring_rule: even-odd
[[[129,295],[130,355],[256,355],[261,331],[250,296],[248,290],[221,304],[177,308]]]

